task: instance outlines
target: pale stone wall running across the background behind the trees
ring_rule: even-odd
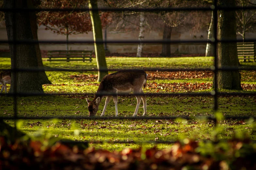
[[[54,34],[50,30],[45,30],[44,26],[40,26],[38,29],[38,39],[40,40],[62,40],[65,41],[65,35],[57,35]],[[103,36],[104,32],[103,31]],[[138,30],[118,33],[114,31],[107,30],[107,40],[137,40],[139,32]],[[248,34],[249,37],[255,37],[255,34]],[[0,39],[7,40],[6,28],[3,22],[0,25]],[[206,40],[207,39],[207,31],[198,32],[198,33],[190,33],[185,30],[180,30],[179,32],[173,29],[172,32],[172,40]],[[89,32],[88,34],[78,34],[78,35],[70,35],[69,40],[91,40],[93,41],[93,34]],[[145,40],[162,40],[162,31],[147,31],[145,34]],[[69,49],[72,50],[94,50],[94,44],[69,44]],[[111,53],[126,53],[126,52],[136,52],[137,44],[107,44],[107,48]],[[8,50],[8,44],[0,44],[0,50]],[[65,44],[40,44],[41,50],[65,50]],[[186,44],[171,44],[171,52],[172,53],[205,53],[206,44],[198,44],[198,43],[186,43]],[[162,45],[161,44],[145,44],[144,52],[147,53],[161,53]]]

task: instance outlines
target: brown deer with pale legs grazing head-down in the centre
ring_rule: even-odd
[[[98,109],[99,109],[99,103],[101,102],[102,98],[104,97],[100,93],[104,93],[105,96],[107,96],[105,101],[105,106],[102,111],[102,114],[100,117],[104,116],[106,108],[113,97],[114,103],[115,103],[115,116],[118,116],[117,111],[117,94],[118,93],[143,93],[142,88],[145,88],[147,81],[147,74],[143,70],[135,70],[135,71],[119,71],[116,73],[109,74],[105,76],[102,81],[99,84],[98,90],[94,96],[94,99],[92,101],[86,99],[88,103],[88,110],[89,110],[89,116],[94,116]],[[116,95],[106,95],[106,93],[114,93]],[[133,117],[135,117],[138,113],[138,109],[141,103],[141,100],[143,101],[144,106],[144,113],[143,116],[146,115],[147,109],[146,109],[146,96],[145,95],[135,95],[137,99],[137,106],[135,109],[135,112],[133,114]]]

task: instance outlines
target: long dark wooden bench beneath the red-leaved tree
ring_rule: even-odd
[[[90,61],[92,62],[93,51],[90,50],[51,50],[47,52],[47,61]],[[56,58],[66,58],[66,59],[56,59]],[[76,58],[76,59],[71,59]],[[77,59],[82,58],[82,59]],[[89,58],[89,59],[85,59]]]

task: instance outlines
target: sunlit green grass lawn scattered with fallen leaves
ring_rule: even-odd
[[[83,62],[47,62],[46,67],[92,69],[96,61]],[[107,58],[109,68],[209,68],[213,65],[212,57],[182,58]],[[255,63],[243,63],[242,67],[255,67]],[[9,58],[0,58],[0,68],[10,68]],[[212,72],[147,72],[149,78],[144,92],[210,92],[212,89]],[[53,85],[43,85],[45,93],[59,92],[96,92],[96,72],[46,72]],[[256,72],[241,71],[241,84],[245,92],[256,92]],[[9,89],[9,85],[7,87]],[[233,92],[233,91],[225,91]],[[37,96],[18,97],[18,116],[87,116],[85,97],[93,96]],[[104,107],[101,102],[96,117]],[[132,116],[136,98],[134,96],[118,98],[120,117]],[[213,97],[211,96],[175,96],[147,97],[147,116],[213,116]],[[13,99],[0,97],[0,116],[13,116]],[[218,112],[224,116],[255,116],[255,96],[220,96]],[[141,103],[141,107],[142,107]],[[114,103],[107,107],[105,117],[115,115]],[[138,111],[142,116],[143,108]],[[14,125],[13,120],[6,120]],[[222,120],[214,128],[211,120],[23,120],[19,129],[29,135],[44,134],[79,141],[175,141],[185,137],[197,140],[213,139],[218,132],[221,139],[228,139],[236,134],[247,132],[256,138],[255,122],[248,120]],[[137,148],[139,144],[91,144],[96,148],[121,150],[126,147]],[[153,147],[147,144],[146,147]],[[170,145],[158,144],[159,149]]]

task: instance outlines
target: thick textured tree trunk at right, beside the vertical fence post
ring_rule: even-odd
[[[218,0],[218,6],[234,7],[235,0]],[[219,40],[236,39],[235,11],[218,11],[217,38]],[[237,67],[238,56],[236,43],[220,42],[217,45],[218,68]],[[217,88],[243,90],[239,71],[219,71],[217,74]]]

